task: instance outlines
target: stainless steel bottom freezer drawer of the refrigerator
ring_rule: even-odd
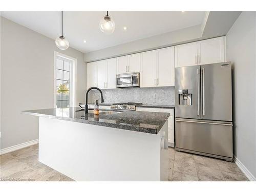
[[[176,118],[176,147],[233,157],[232,122]]]

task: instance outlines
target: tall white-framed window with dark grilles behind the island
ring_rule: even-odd
[[[55,52],[54,107],[76,106],[76,59]]]

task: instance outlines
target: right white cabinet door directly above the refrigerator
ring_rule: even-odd
[[[198,64],[224,62],[224,37],[197,42]]]

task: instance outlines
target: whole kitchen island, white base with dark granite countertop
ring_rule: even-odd
[[[39,116],[39,161],[76,181],[166,181],[168,113],[80,108]]]

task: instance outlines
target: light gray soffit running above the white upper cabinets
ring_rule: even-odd
[[[241,11],[206,12],[202,25],[139,39],[125,44],[84,54],[84,61],[90,62],[127,54],[133,54],[168,46],[184,44],[202,39],[224,36],[236,21]]]

